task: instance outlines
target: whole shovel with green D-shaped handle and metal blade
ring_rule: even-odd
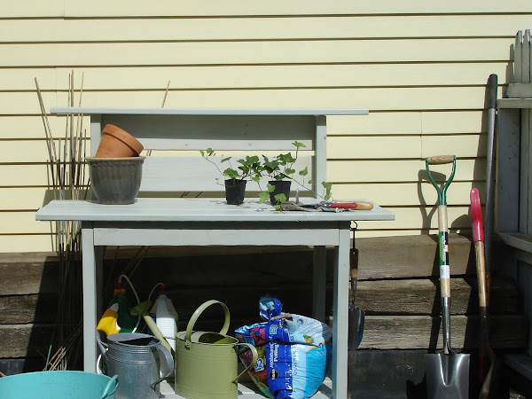
[[[440,254],[440,293],[442,300],[443,351],[425,356],[426,391],[429,399],[464,399],[469,395],[469,355],[450,348],[450,266],[447,225],[447,189],[455,175],[456,157],[426,158],[426,173],[438,192],[438,252]],[[452,163],[452,172],[442,189],[434,182],[429,165]]]

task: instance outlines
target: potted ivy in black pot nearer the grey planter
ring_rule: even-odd
[[[262,165],[259,157],[256,155],[246,156],[237,160],[239,167],[233,168],[231,164],[231,157],[223,158],[220,163],[227,162],[229,168],[218,167],[218,165],[209,157],[215,153],[212,148],[207,148],[206,151],[200,151],[201,156],[207,161],[215,165],[218,171],[224,176],[223,185],[225,186],[225,200],[229,205],[240,205],[244,202],[246,196],[246,182],[247,179],[258,182],[262,175]],[[218,181],[219,178],[216,179]]]

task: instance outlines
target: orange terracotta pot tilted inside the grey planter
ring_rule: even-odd
[[[102,139],[98,145],[96,158],[137,157],[144,146],[126,130],[107,124],[102,130]]]

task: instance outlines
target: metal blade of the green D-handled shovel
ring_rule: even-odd
[[[469,397],[469,355],[454,352],[426,355],[425,375],[427,398]]]

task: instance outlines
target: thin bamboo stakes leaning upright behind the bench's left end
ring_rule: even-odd
[[[82,115],[66,117],[65,137],[56,138],[51,130],[43,94],[37,78],[35,86],[48,147],[49,190],[54,200],[86,198],[89,178],[85,174],[86,129]],[[82,104],[83,76],[79,90]],[[68,78],[68,105],[74,106],[74,71]],[[59,309],[44,370],[75,368],[81,358],[80,325],[82,323],[81,232],[76,221],[59,221],[55,225],[55,249],[59,256]],[[53,348],[59,348],[52,356]]]

